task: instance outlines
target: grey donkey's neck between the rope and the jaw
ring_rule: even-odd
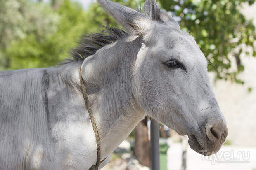
[[[94,112],[102,158],[126,139],[145,112],[133,96],[132,67],[140,38],[127,37],[85,59],[81,72]]]

